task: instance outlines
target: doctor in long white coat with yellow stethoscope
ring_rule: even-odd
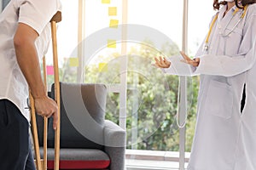
[[[155,58],[166,73],[201,77],[189,170],[256,170],[255,2],[215,0],[195,59]]]

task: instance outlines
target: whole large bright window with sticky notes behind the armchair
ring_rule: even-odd
[[[106,118],[126,129],[128,150],[178,151],[179,77],[164,74],[152,63],[154,56],[172,57],[182,49],[183,1],[129,0],[125,6],[120,0],[62,3],[61,81],[108,86]],[[212,1],[189,1],[189,56],[195,55],[207,34],[212,14]],[[188,120],[182,138],[187,152],[195,129],[198,83],[199,77],[189,77],[183,88]]]

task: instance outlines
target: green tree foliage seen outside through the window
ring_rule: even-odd
[[[151,45],[148,45],[151,44]],[[107,63],[108,71],[99,72],[98,63],[84,67],[84,83],[119,84],[120,60],[128,60],[127,71],[127,149],[172,150],[179,147],[176,124],[178,79],[155,68],[154,57],[179,54],[176,44],[164,44],[160,50],[145,41],[131,47],[127,56],[113,53],[99,57]],[[62,82],[77,82],[77,68],[63,65]],[[53,82],[49,77],[49,82]],[[191,150],[195,129],[196,99],[199,78],[188,77],[188,119],[186,151]],[[119,123],[119,93],[108,93],[106,119]],[[136,133],[135,133],[136,132]]]

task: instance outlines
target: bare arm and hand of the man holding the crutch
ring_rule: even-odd
[[[38,52],[35,47],[35,41],[37,38],[37,31],[26,24],[19,23],[14,37],[16,58],[20,65],[20,70],[31,89],[38,115],[47,117],[53,115],[53,126],[56,128],[58,121],[58,108],[55,101],[50,99],[45,93],[44,82],[41,77],[38,61]]]

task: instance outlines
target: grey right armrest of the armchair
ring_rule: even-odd
[[[104,150],[110,157],[110,170],[125,169],[125,130],[117,124],[105,120]]]

